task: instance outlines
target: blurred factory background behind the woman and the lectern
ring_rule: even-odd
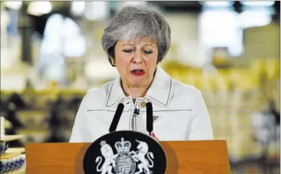
[[[88,88],[115,79],[103,29],[126,4],[171,25],[162,67],[202,91],[233,173],[280,173],[280,1],[1,1],[6,134],[68,142]]]

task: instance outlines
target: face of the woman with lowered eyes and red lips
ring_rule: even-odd
[[[129,88],[149,86],[157,67],[158,48],[150,39],[118,41],[115,46],[115,66],[123,85]]]

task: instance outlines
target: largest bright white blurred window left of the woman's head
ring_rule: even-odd
[[[64,77],[65,57],[82,57],[86,53],[86,41],[81,29],[70,18],[52,14],[43,33],[39,70],[49,79]]]

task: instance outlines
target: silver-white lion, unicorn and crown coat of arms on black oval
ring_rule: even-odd
[[[101,141],[101,155],[104,156],[104,164],[101,166],[102,157],[96,158],[97,172],[101,174],[150,174],[150,168],[153,168],[154,155],[148,152],[148,144],[139,140],[135,140],[137,151],[130,151],[131,143],[125,141],[122,137],[121,142],[115,143],[117,154],[113,153],[113,148],[105,141]],[[147,159],[146,159],[147,158]],[[136,166],[139,169],[136,171]]]

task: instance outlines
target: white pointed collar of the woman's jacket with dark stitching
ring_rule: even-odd
[[[155,77],[144,96],[145,99],[154,101],[164,107],[168,107],[171,100],[171,91],[173,88],[173,79],[160,66],[157,66]],[[110,86],[105,108],[113,108],[126,98],[120,83],[120,77],[117,77]]]

